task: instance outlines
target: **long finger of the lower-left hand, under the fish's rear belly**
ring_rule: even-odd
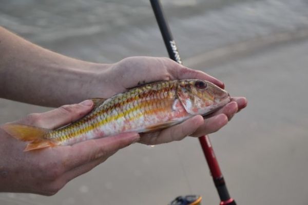
[[[140,138],[138,133],[122,133],[115,136],[92,139],[65,147],[63,159],[66,170],[71,170],[101,157],[110,155],[122,149]]]

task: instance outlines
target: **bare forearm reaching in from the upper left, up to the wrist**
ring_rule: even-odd
[[[0,56],[0,97],[50,107],[100,97],[89,84],[108,67],[54,53],[2,27]]]

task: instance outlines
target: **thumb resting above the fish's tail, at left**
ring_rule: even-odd
[[[54,110],[30,114],[18,123],[46,129],[55,129],[76,121],[93,109],[93,101],[85,100],[80,104],[64,105]]]

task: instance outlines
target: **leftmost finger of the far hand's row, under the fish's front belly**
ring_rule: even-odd
[[[187,119],[179,125],[161,130],[154,136],[153,133],[143,134],[139,142],[147,145],[156,145],[170,141],[181,140],[184,137],[194,133],[198,127],[203,124],[203,122],[203,117],[201,115],[197,115]]]

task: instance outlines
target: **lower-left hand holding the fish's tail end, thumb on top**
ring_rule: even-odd
[[[93,102],[86,100],[49,112],[30,114],[16,123],[55,129],[83,117],[92,108]],[[72,146],[23,152],[25,142],[11,137],[0,126],[0,192],[53,195],[68,181],[90,171],[137,140],[138,133],[124,133]]]

